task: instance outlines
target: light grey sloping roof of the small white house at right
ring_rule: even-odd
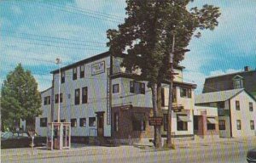
[[[230,98],[233,98],[237,94],[244,91],[244,89],[232,89],[227,91],[219,91],[213,93],[202,93],[195,96],[195,104],[205,104],[205,103],[214,103],[220,101],[226,101]]]

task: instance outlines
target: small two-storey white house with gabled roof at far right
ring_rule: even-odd
[[[195,97],[195,104],[218,108],[220,137],[241,138],[256,135],[256,100],[245,89],[202,93]]]

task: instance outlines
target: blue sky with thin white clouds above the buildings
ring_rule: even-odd
[[[193,37],[181,62],[196,94],[206,77],[256,69],[256,1],[195,0],[188,8],[206,3],[220,8],[218,27]],[[57,57],[69,65],[108,51],[106,31],[124,22],[125,7],[125,0],[0,1],[0,84],[21,63],[44,91]]]

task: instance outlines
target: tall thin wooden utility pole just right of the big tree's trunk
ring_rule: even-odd
[[[171,65],[171,79],[169,87],[169,105],[168,105],[168,116],[167,116],[167,147],[172,148],[172,87],[173,87],[173,78],[176,73],[173,70],[173,55],[174,55],[174,46],[175,46],[175,34],[172,35],[172,52],[170,53],[170,65]]]

